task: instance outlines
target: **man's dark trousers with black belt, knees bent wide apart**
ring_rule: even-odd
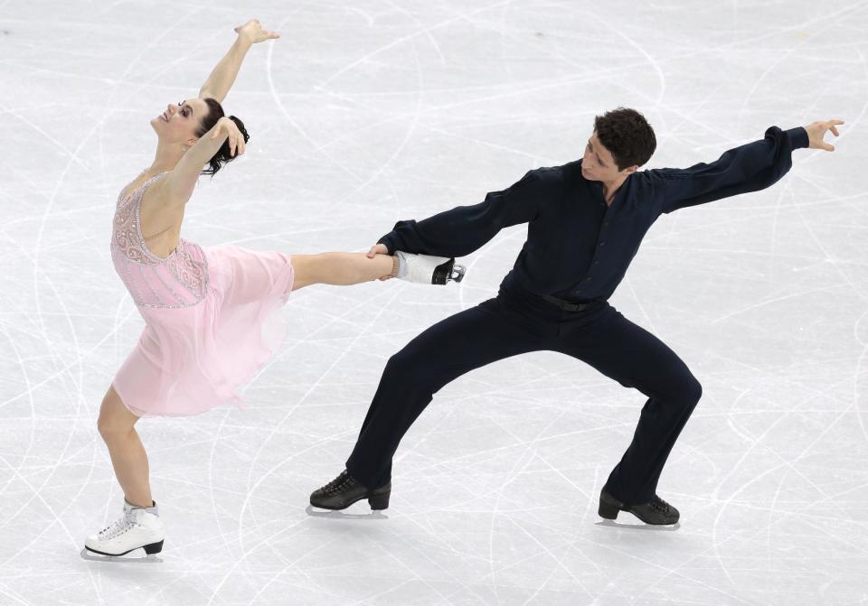
[[[431,326],[389,359],[364,418],[350,474],[368,488],[392,479],[392,456],[433,394],[468,370],[529,351],[560,351],[647,396],[633,441],[605,488],[646,503],[702,387],[673,350],[607,301],[562,311],[524,288],[500,293]]]

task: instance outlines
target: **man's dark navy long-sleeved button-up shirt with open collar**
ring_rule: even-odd
[[[527,223],[527,241],[505,283],[571,301],[608,299],[662,213],[765,189],[788,172],[792,150],[807,146],[803,127],[771,126],[763,139],[713,163],[634,172],[611,206],[602,183],[582,176],[581,160],[539,168],[473,206],[398,221],[378,243],[391,253],[465,256],[502,228]]]

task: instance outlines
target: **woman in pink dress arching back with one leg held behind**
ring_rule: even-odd
[[[288,256],[235,246],[200,247],[180,237],[184,206],[200,173],[218,172],[244,153],[249,139],[241,120],[225,117],[220,103],[250,46],[278,38],[256,19],[235,32],[237,40],[199,98],[170,104],[151,120],[157,135],[154,163],[118,198],[111,256],[146,328],[99,410],[99,434],[109,447],[125,499],[124,515],[85,541],[96,554],[124,555],[139,547],[148,555],[161,551],[163,525],[135,424],[142,416],[195,415],[225,403],[241,406],[236,387],[258,372],[286,334],[279,308],[290,292],[309,284],[361,284],[389,277],[427,284],[463,277],[454,259],[439,256],[400,251],[395,256]]]

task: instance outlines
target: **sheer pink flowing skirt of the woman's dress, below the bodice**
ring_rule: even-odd
[[[145,330],[112,383],[134,415],[243,408],[239,390],[286,336],[281,307],[292,290],[291,257],[236,246],[202,249],[209,284],[201,302],[138,308]]]

